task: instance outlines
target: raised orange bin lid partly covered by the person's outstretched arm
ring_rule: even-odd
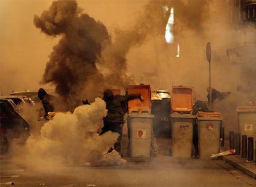
[[[128,112],[138,111],[139,113],[151,113],[151,90],[150,85],[130,85],[127,94],[141,94],[143,101],[139,98],[128,101]]]

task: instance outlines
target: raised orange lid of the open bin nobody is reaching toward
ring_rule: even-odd
[[[173,86],[171,91],[171,113],[192,113],[193,87]]]

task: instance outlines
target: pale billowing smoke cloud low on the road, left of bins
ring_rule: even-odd
[[[43,165],[48,169],[88,162],[90,165],[126,163],[117,152],[108,153],[117,140],[118,133],[98,133],[103,127],[103,117],[106,113],[105,101],[96,98],[91,105],[75,108],[74,113],[56,114],[43,125],[40,137],[28,138],[27,154],[24,154],[29,159],[27,164],[33,168]]]

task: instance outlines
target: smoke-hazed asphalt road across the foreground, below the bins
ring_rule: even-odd
[[[124,165],[26,168],[1,157],[0,186],[256,186],[256,180],[221,159],[158,156],[126,158]]]

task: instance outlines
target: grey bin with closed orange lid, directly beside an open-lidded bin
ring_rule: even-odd
[[[222,116],[219,112],[197,112],[199,158],[220,153]]]

